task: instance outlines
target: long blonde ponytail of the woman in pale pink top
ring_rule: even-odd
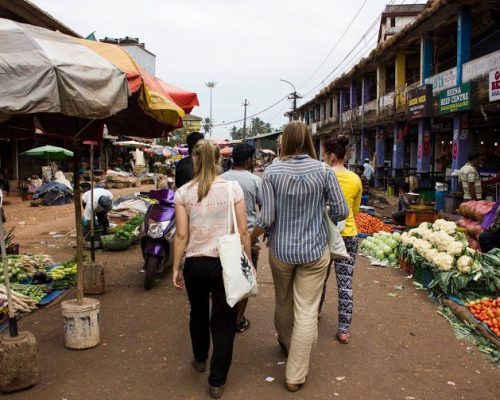
[[[201,202],[217,177],[218,148],[210,140],[199,140],[193,147],[193,184],[198,183],[198,202]]]

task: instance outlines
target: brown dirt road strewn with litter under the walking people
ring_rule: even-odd
[[[8,226],[16,226],[22,250],[46,252],[57,261],[73,255],[68,243],[74,239],[54,239],[49,232],[72,231],[72,210],[72,205],[32,209],[27,203],[13,202],[6,206]],[[331,279],[309,378],[301,391],[286,392],[285,359],[273,327],[274,293],[266,258],[264,251],[258,273],[260,293],[250,301],[247,312],[252,326],[237,335],[223,398],[498,398],[498,368],[477,348],[454,337],[426,292],[415,290],[400,271],[371,267],[361,257],[355,271],[351,343],[346,346],[334,340],[336,288],[335,279]],[[195,372],[190,365],[186,294],[174,290],[167,278],[145,292],[137,246],[126,252],[99,253],[98,261],[107,265],[108,282],[107,292],[96,296],[102,301],[101,345],[84,351],[67,350],[59,304],[23,318],[20,329],[30,330],[38,340],[40,381],[34,388],[8,397],[208,398],[207,375]],[[394,288],[401,284],[403,290]],[[397,297],[388,293],[397,293]],[[66,297],[71,296],[74,293]]]

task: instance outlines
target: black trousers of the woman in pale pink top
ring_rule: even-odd
[[[208,383],[222,386],[226,383],[233,358],[237,310],[226,302],[220,260],[212,257],[187,258],[184,281],[191,304],[189,331],[194,358],[200,362],[208,358],[211,333],[214,347]]]

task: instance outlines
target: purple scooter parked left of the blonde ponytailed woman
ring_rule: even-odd
[[[144,218],[141,238],[144,257],[144,289],[153,287],[157,277],[172,267],[175,236],[175,192],[170,189],[152,190],[149,197],[156,204],[149,206]]]

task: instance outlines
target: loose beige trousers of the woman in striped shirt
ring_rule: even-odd
[[[276,298],[274,325],[288,349],[286,382],[304,383],[318,339],[318,308],[330,251],[327,248],[319,260],[305,264],[287,264],[269,253],[269,263]]]

